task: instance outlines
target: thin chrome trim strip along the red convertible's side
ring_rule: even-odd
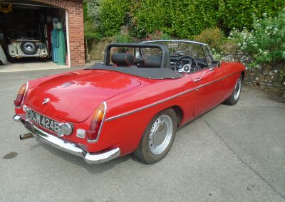
[[[240,73],[240,72],[237,72],[237,73]],[[218,82],[219,80],[223,80],[223,79],[228,78],[229,76],[235,75],[235,74],[237,74],[237,73],[232,73],[232,74],[230,74],[230,75],[225,76],[224,78],[219,78],[218,80],[214,80],[214,81],[212,81],[212,82],[210,82],[210,83],[205,83],[205,84],[203,84],[203,85],[199,85],[198,87],[195,87],[195,88],[193,88],[193,89],[191,89],[191,90],[185,90],[185,91],[180,92],[180,93],[178,93],[178,94],[176,94],[176,95],[172,95],[171,97],[168,97],[168,98],[166,98],[166,99],[164,99],[164,100],[160,100],[160,101],[154,102],[154,103],[152,103],[152,104],[150,104],[150,105],[145,105],[144,107],[140,107],[140,108],[138,108],[138,109],[131,110],[131,111],[129,111],[129,112],[122,113],[122,114],[120,114],[120,115],[115,115],[115,116],[113,116],[113,117],[109,117],[109,118],[105,119],[105,121],[108,122],[108,121],[113,120],[113,119],[118,119],[118,118],[120,118],[120,117],[125,117],[125,116],[127,116],[127,115],[131,115],[131,114],[133,114],[133,113],[135,113],[135,112],[140,112],[140,111],[145,110],[145,109],[147,109],[147,108],[149,108],[149,107],[158,105],[158,104],[160,104],[160,103],[162,103],[162,102],[166,102],[166,101],[168,101],[168,100],[172,100],[173,98],[179,97],[180,95],[184,95],[184,94],[186,94],[186,93],[188,93],[188,92],[192,92],[192,91],[194,91],[194,90],[198,90],[198,89],[201,88],[201,87],[210,85],[210,84],[212,84],[212,83],[216,83],[216,82]]]

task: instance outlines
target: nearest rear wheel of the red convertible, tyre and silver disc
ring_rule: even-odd
[[[173,109],[164,110],[152,118],[147,125],[134,155],[140,161],[154,164],[163,159],[170,150],[177,130]]]

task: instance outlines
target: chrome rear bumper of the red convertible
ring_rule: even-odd
[[[36,125],[33,124],[33,122],[31,122],[29,119],[26,119],[26,116],[24,115],[14,115],[13,119],[16,122],[23,123],[24,126],[33,134],[33,137],[36,137],[36,139],[40,140],[41,142],[51,144],[51,146],[66,151],[70,154],[80,156],[88,164],[100,164],[120,156],[120,148],[109,149],[96,153],[88,153],[88,151],[78,146],[78,144],[67,142],[66,140],[44,132],[36,127]]]

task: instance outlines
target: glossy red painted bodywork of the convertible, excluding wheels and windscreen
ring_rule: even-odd
[[[76,155],[96,164],[135,151],[147,125],[158,112],[174,109],[180,119],[177,124],[182,126],[224,102],[232,95],[238,78],[244,78],[244,71],[241,63],[222,62],[216,68],[182,73],[178,79],[157,80],[110,70],[75,70],[28,81],[24,100],[15,108],[14,119],[20,120],[35,137],[39,129],[82,149]],[[46,97],[49,102],[43,105]],[[78,137],[78,129],[86,132],[90,129],[93,114],[103,102],[106,112],[98,139],[89,142],[86,136]],[[58,137],[41,124],[28,124],[27,109],[60,123],[71,123],[72,133]],[[48,143],[55,146],[52,141]],[[56,147],[68,151],[62,145]],[[86,159],[89,154],[98,158]]]

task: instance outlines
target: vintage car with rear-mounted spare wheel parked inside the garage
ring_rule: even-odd
[[[46,44],[33,38],[12,39],[8,45],[9,58],[47,58]],[[11,60],[12,62],[14,60]]]

